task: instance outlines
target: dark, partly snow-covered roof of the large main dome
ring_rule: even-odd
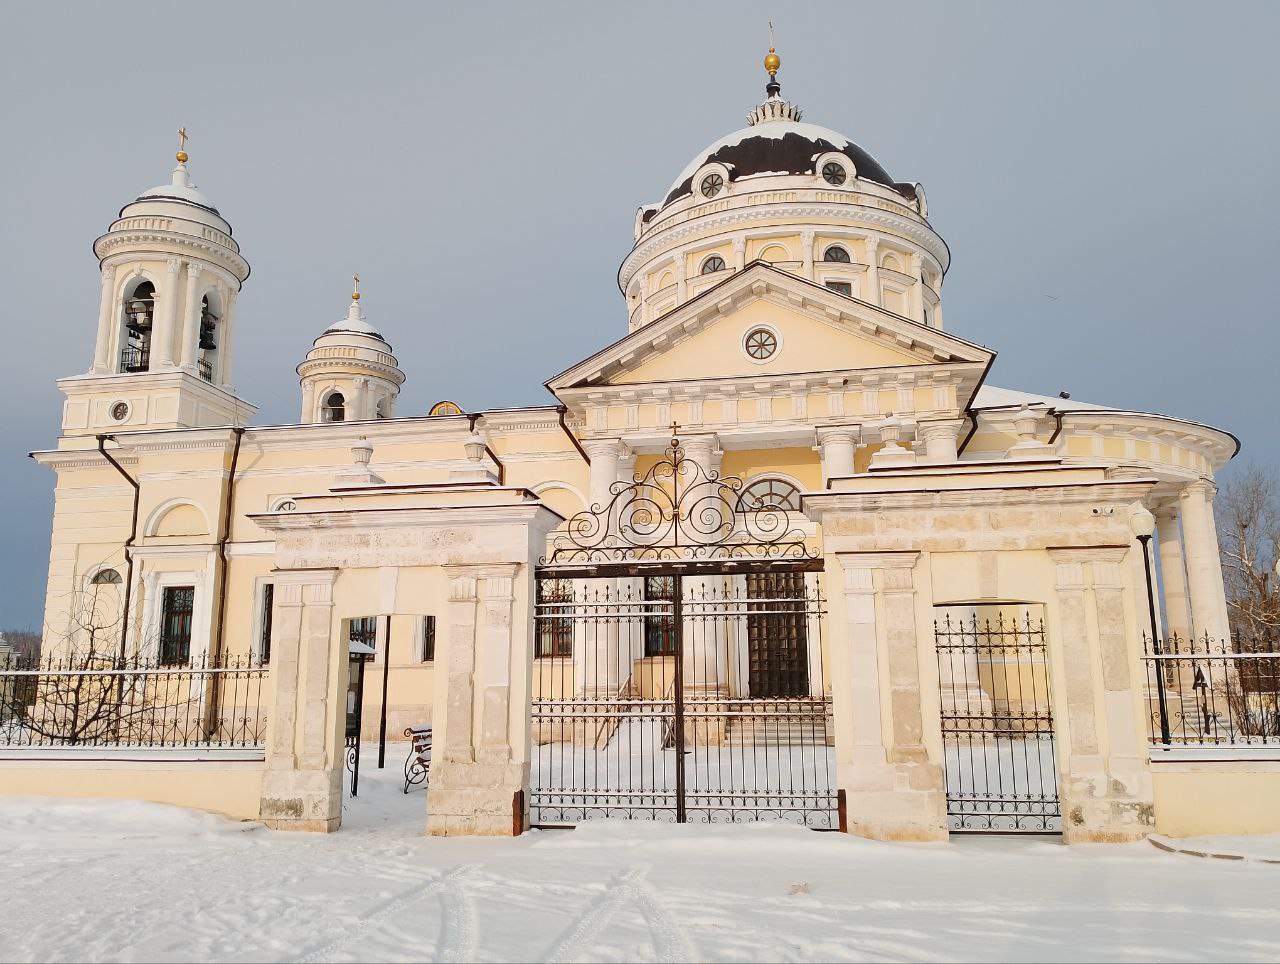
[[[730,181],[764,174],[813,174],[814,161],[832,151],[849,157],[858,177],[884,184],[909,197],[915,196],[913,184],[895,183],[879,161],[844,134],[797,120],[769,120],[726,134],[707,150],[699,151],[676,178],[660,206],[666,207],[672,201],[691,195],[694,174],[704,164],[723,164],[728,168]]]

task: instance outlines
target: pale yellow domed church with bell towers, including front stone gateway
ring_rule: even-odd
[[[351,711],[366,741],[431,727],[433,833],[1280,830],[1280,775],[1221,751],[1243,725],[1172,658],[1230,649],[1236,439],[992,384],[924,188],[804,120],[778,67],[655,178],[616,339],[543,373],[553,405],[404,411],[413,360],[357,283],[298,346],[297,421],[255,424],[233,210],[184,150],[124,205],[92,358],[33,453],[44,653],[261,691],[201,682],[166,763],[67,792],[335,830]]]

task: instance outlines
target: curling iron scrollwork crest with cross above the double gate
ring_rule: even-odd
[[[680,439],[644,475],[609,486],[608,504],[568,520],[540,565],[813,559],[787,510],[742,498],[742,480],[708,472]]]

